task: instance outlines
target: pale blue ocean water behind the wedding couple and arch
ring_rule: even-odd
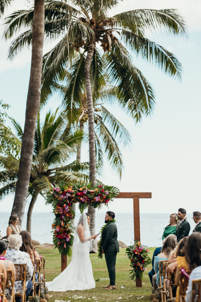
[[[8,227],[8,219],[10,212],[0,213],[0,231],[2,236],[6,236]],[[190,223],[190,234],[195,227],[194,221],[191,219],[193,214],[187,214],[188,222]],[[80,213],[76,213],[75,223],[77,223]],[[99,233],[101,226],[104,225],[105,213],[96,213],[96,233]],[[31,237],[39,243],[52,243],[52,223],[54,220],[53,213],[33,213]],[[132,213],[116,213],[115,220],[117,222],[118,240],[127,245],[133,242],[134,226]],[[168,224],[169,214],[140,214],[140,236],[143,245],[153,247],[162,246],[162,234],[164,227]],[[26,214],[22,224],[22,230],[26,230]],[[98,239],[99,237],[97,237]]]

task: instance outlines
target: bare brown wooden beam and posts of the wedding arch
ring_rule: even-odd
[[[151,192],[120,192],[115,198],[133,198],[134,239],[140,241],[140,198],[152,198]],[[61,254],[61,272],[67,267],[67,255]],[[140,278],[136,287],[142,287]]]

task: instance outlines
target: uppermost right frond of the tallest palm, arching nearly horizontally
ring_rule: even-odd
[[[176,9],[137,9],[115,15],[117,25],[138,34],[138,29],[163,31],[167,34],[187,36],[184,18]]]

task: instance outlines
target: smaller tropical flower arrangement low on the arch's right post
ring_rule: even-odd
[[[141,245],[139,240],[134,240],[132,246],[128,246],[126,249],[127,257],[130,260],[130,278],[134,281],[139,277],[143,280],[143,271],[147,265],[151,263],[151,259],[148,256],[149,248]]]

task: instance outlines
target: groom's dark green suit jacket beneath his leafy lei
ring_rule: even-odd
[[[109,223],[103,232],[103,246],[105,253],[119,252],[119,243],[117,240],[117,226],[114,222]]]

